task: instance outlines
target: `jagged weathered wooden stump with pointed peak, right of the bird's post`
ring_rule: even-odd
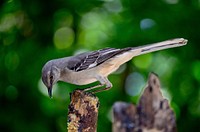
[[[117,102],[113,113],[113,132],[176,132],[174,112],[163,98],[159,79],[153,73],[139,104]]]

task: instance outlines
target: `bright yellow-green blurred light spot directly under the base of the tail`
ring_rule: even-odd
[[[135,57],[133,63],[136,67],[141,69],[147,69],[152,62],[152,54],[145,54],[142,56]]]

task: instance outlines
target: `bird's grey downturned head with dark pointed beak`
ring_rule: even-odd
[[[47,62],[42,68],[42,81],[48,89],[49,97],[52,97],[53,85],[59,80],[60,70],[53,63],[53,61]]]

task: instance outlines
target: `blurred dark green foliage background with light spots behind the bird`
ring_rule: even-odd
[[[69,92],[49,99],[41,69],[50,59],[104,47],[139,46],[184,37],[188,45],[134,58],[98,93],[98,131],[111,131],[115,101],[137,102],[148,73],[160,76],[180,132],[200,130],[199,0],[1,0],[0,130],[65,132]],[[86,87],[86,86],[83,86]]]

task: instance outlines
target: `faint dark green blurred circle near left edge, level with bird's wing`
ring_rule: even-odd
[[[8,70],[14,71],[20,62],[19,55],[15,51],[10,51],[5,56],[5,66]]]

